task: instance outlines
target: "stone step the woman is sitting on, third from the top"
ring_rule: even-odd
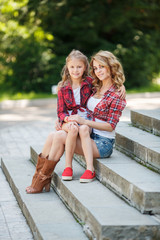
[[[74,155],[86,166],[83,156]],[[96,176],[106,187],[142,213],[160,213],[160,175],[114,149],[110,158],[95,159]]]

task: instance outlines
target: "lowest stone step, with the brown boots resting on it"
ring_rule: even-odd
[[[25,192],[35,171],[31,161],[17,155],[14,159],[13,157],[2,159],[1,167],[35,240],[88,239],[78,220],[65,207],[53,189],[45,194]]]

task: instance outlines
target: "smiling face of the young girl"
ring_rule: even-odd
[[[86,69],[84,63],[76,58],[72,58],[68,63],[67,63],[67,68],[69,71],[69,74],[71,76],[72,81],[81,81],[83,73]]]

